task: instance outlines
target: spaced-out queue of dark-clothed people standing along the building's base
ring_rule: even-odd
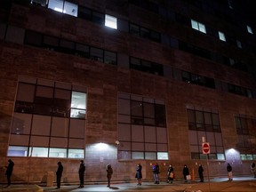
[[[12,172],[13,172],[13,167],[14,167],[14,163],[12,161],[12,159],[8,160],[8,165],[5,166],[6,171],[5,171],[5,175],[7,177],[7,186],[6,188],[10,188],[11,186],[11,176],[12,176]],[[60,180],[61,180],[61,176],[62,176],[62,172],[63,172],[63,165],[61,164],[61,162],[58,162],[58,168],[56,171],[56,183],[57,183],[57,189],[60,188]],[[256,166],[255,163],[251,164],[251,170],[253,173],[254,178],[256,178]],[[107,165],[107,180],[108,180],[108,188],[110,188],[110,181],[112,178],[112,174],[113,174],[113,169],[111,167],[111,164]],[[155,184],[159,184],[159,173],[160,173],[160,167],[159,164],[155,163],[152,164],[152,171],[153,171],[153,178],[155,181]],[[79,175],[79,187],[78,188],[84,188],[84,172],[85,172],[85,165],[84,165],[84,160],[80,161],[80,165],[79,165],[79,169],[78,169],[78,175]],[[142,180],[142,165],[141,164],[137,164],[136,166],[136,171],[135,171],[135,178],[138,180],[138,184],[141,186],[141,180]],[[227,172],[228,172],[228,180],[233,180],[233,172],[232,172],[232,166],[231,164],[227,164]],[[183,170],[182,170],[182,174],[183,174],[183,178],[185,180],[185,182],[188,182],[188,180],[191,180],[191,175],[189,174],[189,169],[187,164],[184,164]],[[198,175],[200,178],[199,182],[204,182],[204,168],[202,164],[198,165]],[[167,183],[172,183],[174,180],[175,176],[174,176],[174,168],[172,166],[172,164],[169,165],[168,170],[167,170]]]

